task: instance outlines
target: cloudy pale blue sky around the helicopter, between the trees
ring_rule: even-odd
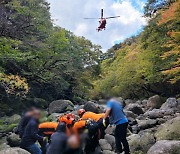
[[[84,36],[105,52],[114,44],[138,34],[147,24],[143,18],[143,7],[147,0],[47,0],[50,3],[54,24]],[[101,9],[104,17],[121,16],[107,20],[106,30],[97,32]]]

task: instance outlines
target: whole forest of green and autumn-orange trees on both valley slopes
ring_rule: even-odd
[[[105,53],[55,26],[49,9],[45,0],[0,2],[0,114],[58,99],[179,97],[179,0],[148,0],[148,25]]]

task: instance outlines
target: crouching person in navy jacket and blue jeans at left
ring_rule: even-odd
[[[37,109],[34,110],[31,119],[24,129],[24,133],[21,139],[21,148],[29,151],[31,154],[42,154],[41,149],[37,144],[35,144],[36,141],[42,143],[45,140],[45,138],[38,135],[38,124],[40,118],[41,112]]]

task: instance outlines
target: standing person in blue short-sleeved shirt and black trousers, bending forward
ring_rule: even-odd
[[[123,150],[125,154],[130,154],[129,144],[126,139],[128,119],[123,112],[123,105],[116,99],[110,99],[107,102],[107,109],[105,116],[103,118],[103,123],[105,124],[105,119],[109,116],[110,124],[116,125],[115,128],[115,141],[117,153],[122,153]],[[122,145],[124,149],[122,148]]]

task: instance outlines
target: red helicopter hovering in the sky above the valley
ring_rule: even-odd
[[[103,17],[104,16],[104,10],[101,9],[101,18],[84,18],[84,19],[100,19],[99,20],[99,26],[98,28],[96,29],[98,32],[99,31],[102,31],[103,29],[105,30],[106,29],[106,20],[107,19],[112,19],[112,18],[119,18],[120,16],[113,16],[113,17]]]

